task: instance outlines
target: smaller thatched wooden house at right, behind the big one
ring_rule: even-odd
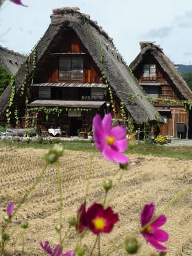
[[[192,137],[191,107],[184,109],[180,100],[192,100],[192,92],[173,62],[155,42],[140,42],[141,52],[130,67],[146,93],[154,99],[154,107],[164,118],[163,135]],[[187,107],[187,106],[186,106]],[[188,110],[188,111],[187,111]]]

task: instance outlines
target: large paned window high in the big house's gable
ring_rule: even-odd
[[[60,57],[59,79],[83,81],[83,56]]]

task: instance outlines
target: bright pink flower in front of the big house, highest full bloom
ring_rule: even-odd
[[[121,126],[112,128],[111,114],[105,115],[102,121],[97,114],[93,118],[93,127],[95,146],[106,159],[122,164],[129,162],[129,158],[121,154],[127,149],[126,130]]]

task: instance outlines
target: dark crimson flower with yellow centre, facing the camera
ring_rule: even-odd
[[[104,209],[102,204],[93,204],[86,212],[86,225],[94,234],[111,232],[118,221],[118,214],[111,207]]]

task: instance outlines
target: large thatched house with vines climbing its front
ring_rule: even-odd
[[[1,97],[0,113],[21,127],[38,116],[46,129],[68,127],[71,135],[97,112],[124,109],[135,124],[155,122],[159,113],[138,94],[145,95],[108,34],[78,8],[61,8]]]

